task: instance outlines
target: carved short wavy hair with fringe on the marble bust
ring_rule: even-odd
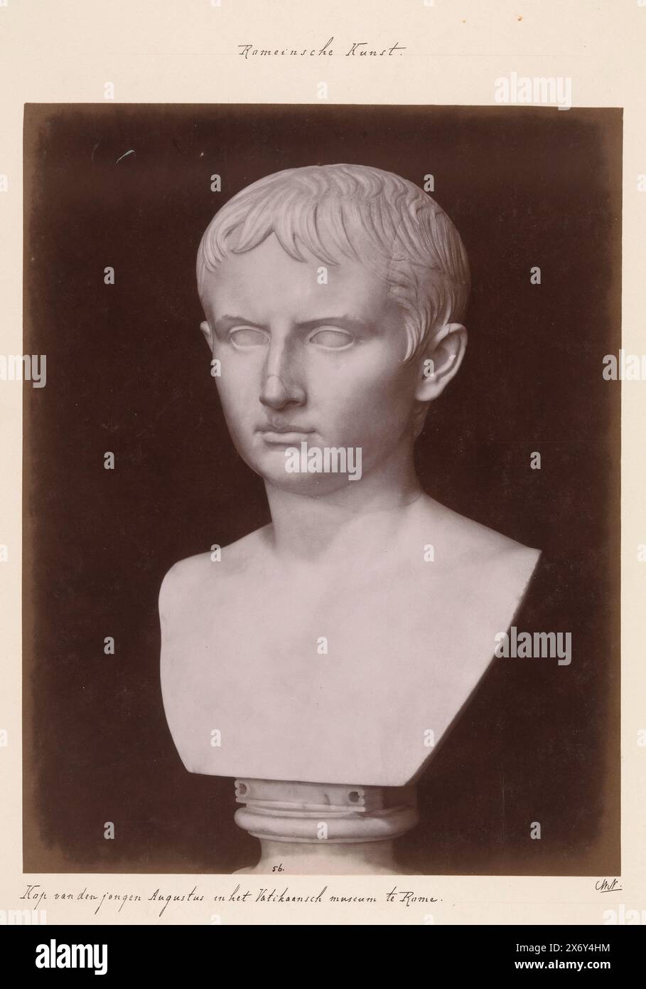
[[[366,236],[374,252],[368,263],[404,314],[407,360],[436,326],[464,317],[470,279],[459,233],[435,200],[399,175],[368,165],[307,165],[242,189],[204,230],[201,296],[206,271],[271,233],[294,260],[306,260],[304,247],[324,264],[339,263],[340,255],[366,263],[364,247],[360,254],[353,245]]]

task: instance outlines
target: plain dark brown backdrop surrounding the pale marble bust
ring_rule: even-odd
[[[269,517],[209,377],[195,257],[242,187],[345,161],[435,175],[473,293],[420,473],[543,550],[517,625],[573,635],[570,667],[494,663],[421,781],[400,861],[618,872],[619,385],[602,358],[619,346],[621,112],[28,105],[25,125],[25,351],[47,356],[46,387],[25,389],[25,869],[253,860],[233,781],[185,770],[159,686],[165,571]]]

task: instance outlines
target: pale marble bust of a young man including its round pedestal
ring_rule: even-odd
[[[227,427],[272,521],[164,578],[169,728],[300,870],[322,835],[346,870],[392,871],[377,846],[414,824],[415,780],[539,556],[425,494],[413,465],[466,347],[464,247],[412,182],[308,166],[229,200],[197,273]]]

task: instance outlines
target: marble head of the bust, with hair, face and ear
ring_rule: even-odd
[[[363,165],[269,175],[215,215],[198,253],[202,331],[243,459],[304,494],[340,474],[285,470],[285,448],[361,448],[363,477],[410,459],[457,371],[469,270],[412,182]]]

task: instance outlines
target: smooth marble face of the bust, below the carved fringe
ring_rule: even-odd
[[[387,287],[352,260],[293,260],[271,234],[207,273],[202,331],[241,457],[266,481],[303,494],[349,484],[347,474],[288,473],[285,449],[362,448],[363,478],[414,440],[421,363],[404,363],[403,317]],[[361,484],[361,481],[359,482]]]

